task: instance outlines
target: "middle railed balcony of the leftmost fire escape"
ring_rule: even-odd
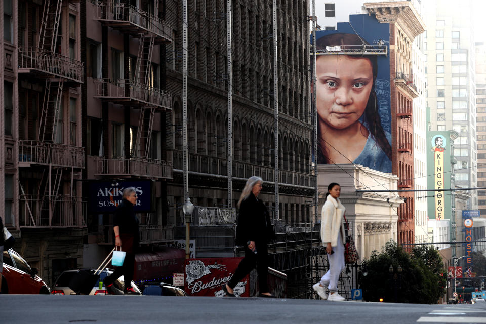
[[[19,167],[37,164],[83,169],[85,149],[65,144],[19,141]]]

